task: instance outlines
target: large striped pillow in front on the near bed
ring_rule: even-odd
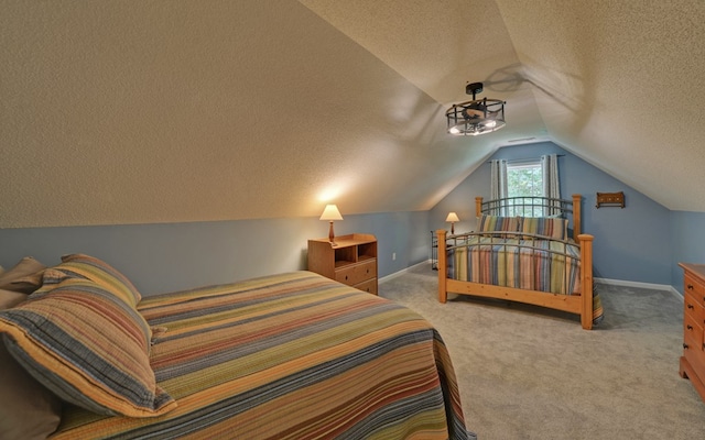
[[[121,293],[68,277],[0,311],[0,331],[10,354],[66,402],[128,417],[176,407],[150,366],[148,323]]]

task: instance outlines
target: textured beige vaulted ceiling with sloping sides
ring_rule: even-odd
[[[705,2],[0,0],[0,228],[426,210],[550,140],[705,212]],[[444,112],[507,101],[507,128]]]

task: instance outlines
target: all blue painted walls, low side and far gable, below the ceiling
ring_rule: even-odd
[[[595,235],[595,276],[671,285],[683,290],[679,262],[705,263],[705,213],[670,211],[553,143],[500,148],[491,158],[534,158],[557,153],[561,193],[582,194],[583,229]],[[488,158],[489,160],[489,158]],[[595,193],[625,191],[627,207],[595,208]],[[336,234],[377,235],[380,277],[423,262],[431,254],[430,231],[475,229],[475,197],[489,197],[489,165],[482,163],[430,211],[347,216]],[[327,235],[317,218],[221,222],[0,229],[0,265],[32,255],[46,265],[62,254],[98,256],[150,295],[227,283],[306,267],[310,238]],[[392,254],[397,260],[392,260]]]

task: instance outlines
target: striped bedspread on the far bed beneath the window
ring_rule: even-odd
[[[470,235],[448,250],[448,278],[579,295],[581,250],[553,240]]]

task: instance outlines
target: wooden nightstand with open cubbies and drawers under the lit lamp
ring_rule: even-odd
[[[308,240],[308,271],[377,295],[377,239],[350,234]]]

